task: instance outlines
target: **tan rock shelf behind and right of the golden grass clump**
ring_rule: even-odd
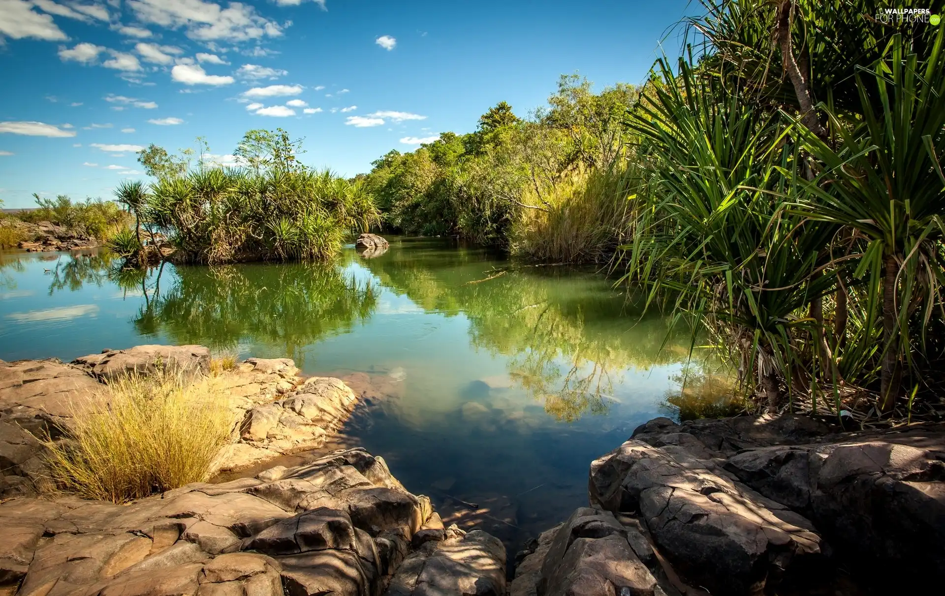
[[[0,361],[0,498],[32,495],[48,484],[42,440],[58,440],[88,408],[107,407],[105,383],[158,368],[191,380],[210,372],[202,346],[106,349],[72,364]],[[334,378],[302,380],[287,358],[249,358],[218,371],[210,388],[232,408],[232,444],[212,471],[260,466],[294,451],[321,447],[350,415],[357,397]]]

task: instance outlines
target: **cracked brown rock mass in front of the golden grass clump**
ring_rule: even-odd
[[[21,497],[0,504],[0,592],[504,594],[502,544],[455,527],[418,540],[436,516],[359,449],[125,506]]]

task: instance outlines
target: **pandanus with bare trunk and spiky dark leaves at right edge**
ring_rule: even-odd
[[[845,226],[866,239],[857,273],[869,273],[870,302],[882,296],[881,410],[901,392],[902,360],[921,353],[919,336],[940,306],[945,234],[945,55],[939,29],[924,60],[893,38],[872,70],[856,73],[862,119],[824,107],[838,136],[831,144],[799,128],[822,164],[796,213]],[[880,288],[882,287],[882,292]]]

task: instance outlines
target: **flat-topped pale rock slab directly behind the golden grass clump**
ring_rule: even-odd
[[[80,356],[72,364],[107,381],[130,373],[153,374],[159,366],[173,373],[195,376],[210,371],[210,349],[203,346],[135,346]]]

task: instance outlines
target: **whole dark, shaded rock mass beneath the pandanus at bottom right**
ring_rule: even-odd
[[[830,434],[806,417],[656,418],[592,463],[589,498],[522,553],[511,594],[650,593],[641,563],[657,594],[803,593],[840,564],[896,589],[945,573],[941,424]]]

